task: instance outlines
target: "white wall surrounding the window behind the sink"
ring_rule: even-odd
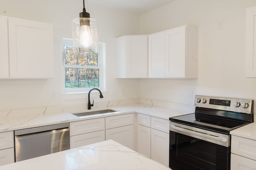
[[[0,111],[84,103],[84,99],[64,100],[62,67],[62,37],[72,38],[71,21],[82,12],[82,0],[1,0],[0,15],[44,21],[54,25],[55,78],[46,80],[0,80]],[[139,98],[139,80],[117,80],[116,42],[122,35],[138,34],[139,17],[86,3],[86,11],[98,21],[98,37],[106,43],[106,96],[101,101]],[[47,69],[47,66],[46,66]],[[121,88],[125,88],[121,96]],[[117,91],[117,95],[112,90]],[[55,93],[52,98],[50,92]],[[113,95],[114,94],[114,95]]]

